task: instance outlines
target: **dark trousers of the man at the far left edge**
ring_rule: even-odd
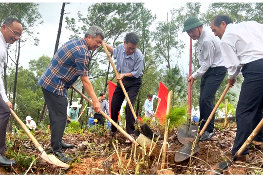
[[[10,117],[10,108],[0,96],[0,154],[5,152],[5,134]]]

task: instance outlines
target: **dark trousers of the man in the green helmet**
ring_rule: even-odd
[[[210,116],[215,105],[213,104],[214,96],[225,78],[226,68],[215,67],[209,68],[207,72],[202,76],[200,85],[200,99],[199,99],[199,110],[200,110],[200,130],[203,129],[208,117]],[[202,121],[203,120],[203,121]],[[211,122],[207,125],[206,131],[213,132],[214,130],[215,116]],[[202,122],[201,122],[202,121]]]

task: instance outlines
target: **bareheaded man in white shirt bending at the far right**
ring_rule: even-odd
[[[211,21],[211,29],[221,39],[230,87],[234,86],[240,71],[244,77],[236,109],[237,134],[231,151],[234,155],[262,119],[263,24],[256,21],[233,24],[231,18],[218,15]],[[262,140],[261,130],[253,140],[256,148],[261,150]],[[248,161],[248,153],[246,148],[238,160]]]

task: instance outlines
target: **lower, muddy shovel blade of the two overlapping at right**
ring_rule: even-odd
[[[193,143],[189,142],[188,144],[181,147],[179,150],[175,152],[174,155],[174,161],[175,162],[182,162],[186,159],[188,159],[192,152]],[[200,147],[198,145],[195,145],[193,150],[193,155],[197,153],[200,150]]]

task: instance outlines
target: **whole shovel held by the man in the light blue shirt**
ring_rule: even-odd
[[[114,70],[115,74],[116,74],[116,75],[119,75],[117,69],[115,68],[115,66],[114,66],[114,64],[113,64],[113,60],[112,60],[112,58],[111,58],[111,55],[110,55],[110,53],[109,53],[109,51],[108,51],[108,49],[107,49],[107,47],[106,47],[106,45],[105,45],[104,42],[105,42],[105,41],[103,41],[101,44],[102,44],[102,46],[103,46],[103,48],[104,48],[104,50],[105,50],[105,52],[106,52],[106,54],[107,54],[107,56],[108,56],[108,58],[109,58],[109,60],[110,60],[110,63],[111,63],[111,65],[112,65],[112,67],[113,67],[113,70]],[[150,127],[149,127],[146,123],[144,123],[143,125],[140,125],[140,123],[139,123],[139,121],[138,121],[138,119],[137,119],[137,117],[136,117],[136,114],[135,114],[135,112],[134,112],[133,106],[131,105],[130,98],[129,98],[129,96],[128,96],[128,94],[127,94],[127,92],[126,92],[126,90],[125,90],[125,88],[124,88],[121,80],[119,80],[119,84],[120,84],[120,86],[121,86],[121,88],[122,88],[122,90],[123,90],[123,93],[124,93],[124,95],[125,95],[125,97],[126,97],[126,100],[127,100],[128,104],[129,104],[129,106],[130,106],[130,108],[131,108],[131,113],[132,113],[132,115],[133,115],[133,117],[134,117],[134,119],[135,119],[135,122],[136,122],[136,124],[137,124],[137,126],[138,126],[138,128],[139,128],[139,131],[140,131],[143,135],[145,135],[146,137],[148,137],[149,139],[152,139],[153,136],[154,136],[154,139],[156,139],[156,138],[157,138],[157,135],[153,133],[153,131],[150,129]],[[134,133],[137,135],[138,132],[135,131]]]

